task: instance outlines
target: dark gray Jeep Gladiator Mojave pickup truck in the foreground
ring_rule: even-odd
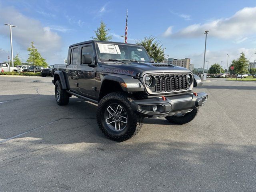
[[[193,120],[207,100],[198,76],[186,68],[155,63],[141,45],[85,41],[68,50],[67,65],[55,65],[55,98],[66,105],[73,95],[98,104],[102,133],[115,141],[134,136],[143,118],[171,123]]]

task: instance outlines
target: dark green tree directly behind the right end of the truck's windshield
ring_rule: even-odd
[[[144,37],[143,40],[136,42],[136,44],[144,46],[149,56],[154,58],[155,62],[162,62],[164,60],[162,44],[155,37]]]

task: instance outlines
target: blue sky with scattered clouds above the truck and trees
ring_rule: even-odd
[[[14,54],[28,57],[32,41],[48,64],[62,64],[68,46],[90,40],[103,20],[113,41],[122,42],[128,9],[128,42],[155,36],[172,58],[191,58],[202,66],[204,30],[209,30],[206,60],[226,66],[244,52],[256,59],[255,0],[163,0],[163,1],[34,1],[0,0],[1,23],[11,23]],[[10,55],[8,26],[0,25],[0,62]]]

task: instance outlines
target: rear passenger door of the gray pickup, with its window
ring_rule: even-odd
[[[67,66],[70,89],[76,92],[78,91],[78,52],[78,47],[71,48],[69,56],[69,65]]]

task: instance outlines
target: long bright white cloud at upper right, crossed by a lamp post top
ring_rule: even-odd
[[[229,18],[221,18],[204,24],[193,24],[175,33],[164,32],[166,37],[195,38],[209,30],[209,36],[223,39],[242,39],[256,32],[256,7],[246,7]]]

